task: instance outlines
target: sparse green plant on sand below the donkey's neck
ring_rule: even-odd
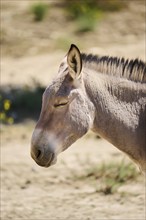
[[[121,185],[128,181],[133,181],[139,176],[135,166],[132,163],[126,163],[124,160],[120,162],[103,162],[97,165],[87,159],[87,161],[84,161],[84,165],[83,162],[81,164],[82,167],[85,165],[85,169],[82,174],[72,171],[73,178],[76,180],[91,180],[95,191],[105,195],[117,192]]]

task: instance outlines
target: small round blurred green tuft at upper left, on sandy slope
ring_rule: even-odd
[[[31,6],[31,11],[34,15],[35,21],[42,21],[46,16],[47,10],[48,5],[42,2],[35,3]]]

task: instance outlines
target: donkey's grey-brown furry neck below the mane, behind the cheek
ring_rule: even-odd
[[[144,129],[141,132],[145,121],[139,118],[141,111],[144,114],[145,110],[144,85],[141,88],[138,83],[95,73],[87,68],[83,75],[87,95],[95,106],[93,131],[132,158],[140,157],[142,152],[135,156],[132,149],[144,150],[145,146]]]

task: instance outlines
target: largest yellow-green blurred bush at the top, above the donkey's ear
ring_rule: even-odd
[[[94,30],[103,12],[118,11],[126,4],[121,0],[64,0],[64,5],[67,15],[76,21],[78,32],[87,32]]]

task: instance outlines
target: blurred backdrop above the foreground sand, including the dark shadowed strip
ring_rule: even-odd
[[[0,120],[7,122],[10,110],[8,123],[38,117],[44,87],[71,43],[84,52],[145,60],[144,18],[141,0],[2,0]]]

